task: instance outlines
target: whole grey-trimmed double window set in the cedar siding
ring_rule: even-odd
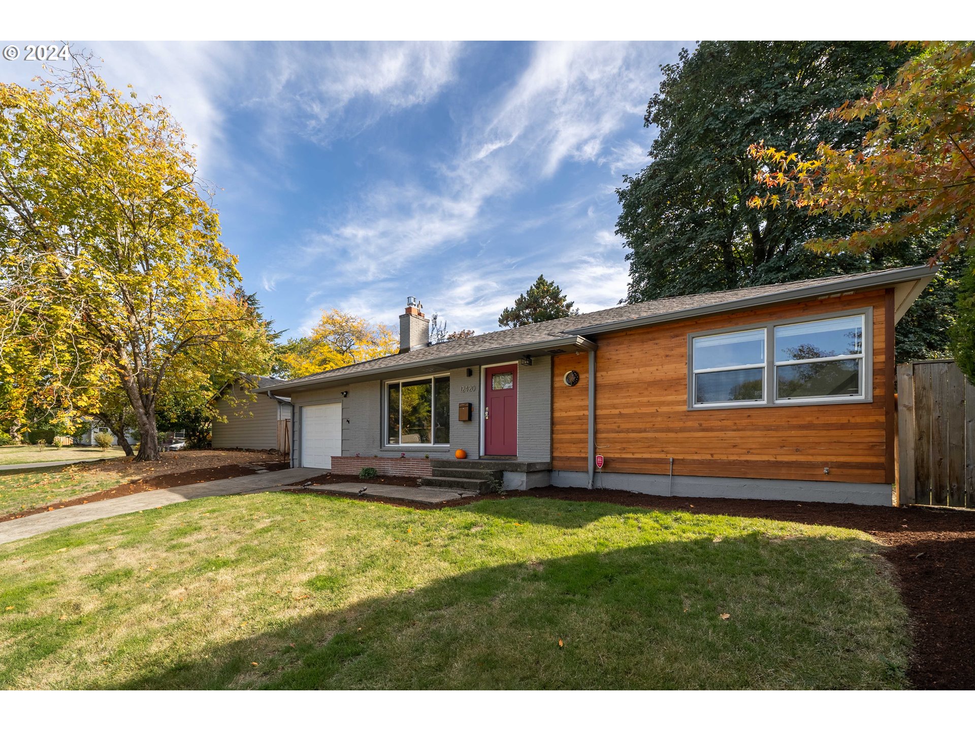
[[[694,336],[690,405],[866,400],[867,326],[858,313]]]

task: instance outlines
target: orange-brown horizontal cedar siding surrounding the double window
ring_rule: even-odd
[[[873,403],[687,408],[687,336],[721,327],[874,308]],[[855,292],[599,336],[596,444],[603,472],[843,482],[892,482],[893,290]],[[579,383],[563,383],[566,370]],[[586,354],[555,357],[555,470],[587,469]],[[823,468],[829,467],[825,475]]]

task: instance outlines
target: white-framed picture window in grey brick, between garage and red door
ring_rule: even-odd
[[[450,377],[386,384],[386,443],[450,443]]]

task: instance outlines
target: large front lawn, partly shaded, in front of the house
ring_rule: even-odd
[[[0,687],[897,688],[878,551],[530,497],[194,500],[0,546]]]

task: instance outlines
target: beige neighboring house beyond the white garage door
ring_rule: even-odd
[[[284,381],[280,378],[263,375],[242,375],[228,383],[216,402],[217,412],[224,420],[214,420],[213,446],[287,453],[291,447],[291,400],[266,393],[266,389],[281,383]],[[249,392],[254,392],[254,396],[249,396]],[[236,403],[231,403],[228,396]]]

